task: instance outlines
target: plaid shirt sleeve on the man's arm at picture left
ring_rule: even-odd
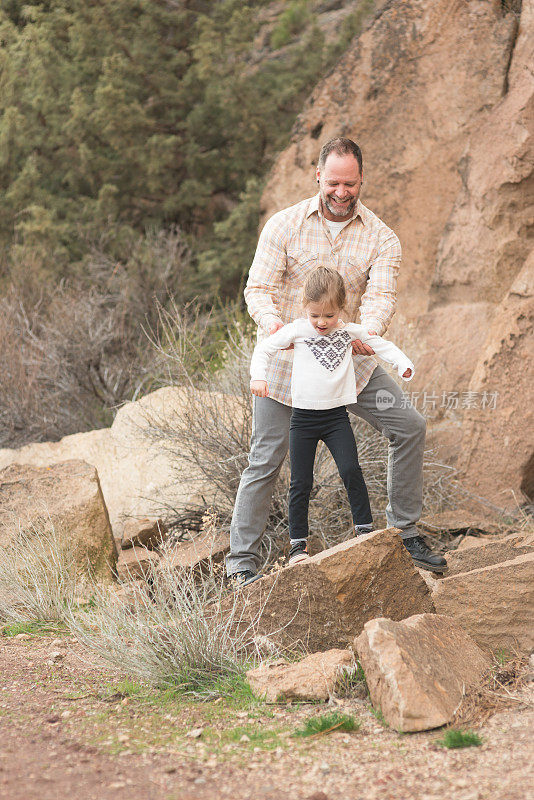
[[[267,332],[271,322],[281,319],[278,291],[286,263],[284,226],[278,213],[260,234],[244,292],[250,316]]]

